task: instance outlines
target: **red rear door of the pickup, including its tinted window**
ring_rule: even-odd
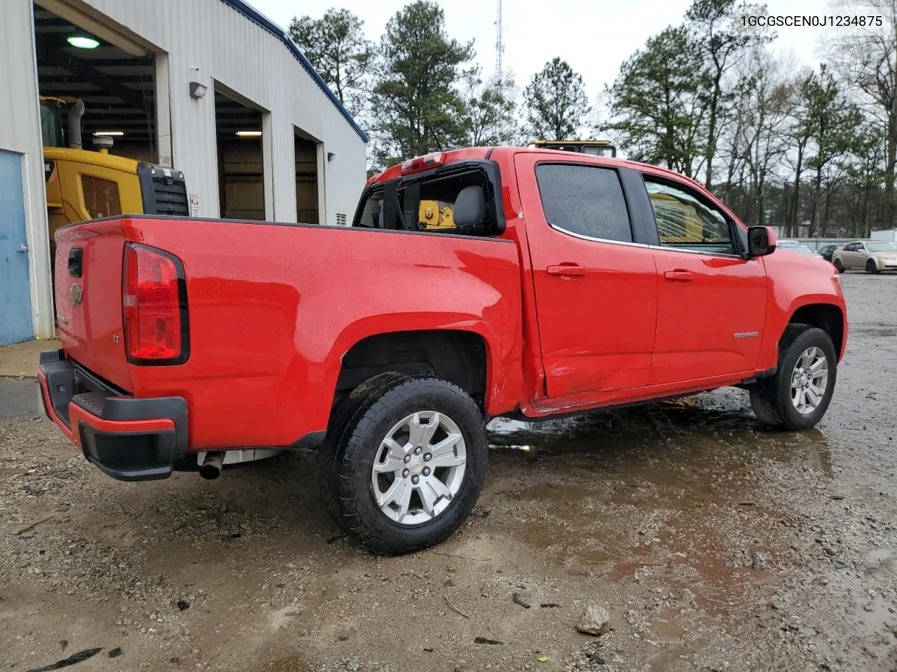
[[[638,388],[649,379],[657,272],[632,243],[619,172],[520,153],[545,387],[550,398]]]

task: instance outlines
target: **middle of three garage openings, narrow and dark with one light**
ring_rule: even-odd
[[[215,90],[215,133],[221,216],[265,220],[262,112]]]

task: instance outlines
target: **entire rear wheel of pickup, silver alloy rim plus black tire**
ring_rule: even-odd
[[[327,508],[343,530],[385,555],[422,550],[457,530],[483,487],[488,455],[483,415],[464,390],[390,374],[341,416],[344,426],[321,450],[335,488]]]

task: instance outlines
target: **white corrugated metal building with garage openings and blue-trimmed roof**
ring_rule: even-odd
[[[4,0],[0,13],[0,344],[54,335],[40,99],[83,100],[85,149],[101,138],[183,172],[193,215],[351,220],[367,137],[244,0]]]

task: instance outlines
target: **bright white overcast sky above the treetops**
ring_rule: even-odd
[[[286,28],[293,16],[318,18],[327,7],[345,8],[364,22],[378,41],[388,19],[407,0],[249,0],[261,13]],[[475,40],[476,61],[483,74],[495,69],[497,0],[441,0],[446,29],[459,40]],[[691,0],[504,0],[504,67],[522,89],[554,56],[561,56],[586,82],[594,102],[605,84],[614,82],[625,58],[670,24],[682,22]],[[770,14],[823,15],[828,0],[767,0]],[[550,9],[549,9],[550,8]],[[777,28],[773,47],[793,51],[807,65],[818,64],[818,41],[825,28]]]

